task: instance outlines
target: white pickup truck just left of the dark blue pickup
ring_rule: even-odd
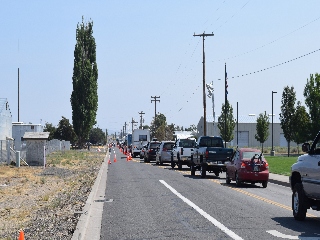
[[[178,169],[182,169],[182,165],[191,166],[191,155],[196,147],[195,138],[181,138],[177,139],[171,154],[171,168],[176,165]]]

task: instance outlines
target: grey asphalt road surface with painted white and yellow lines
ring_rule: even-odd
[[[116,158],[116,162],[114,159]],[[112,148],[101,239],[320,239],[320,212],[294,220],[291,189],[225,184]]]

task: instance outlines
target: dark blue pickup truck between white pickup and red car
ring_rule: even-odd
[[[206,172],[219,176],[226,171],[226,163],[232,157],[233,149],[225,148],[221,137],[201,136],[191,156],[191,175],[195,175],[196,170],[200,171],[202,178],[206,177]]]

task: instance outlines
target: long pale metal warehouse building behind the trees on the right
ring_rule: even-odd
[[[217,126],[218,117],[215,118],[215,123],[213,124],[213,115],[207,115],[207,135],[208,136],[220,136],[220,130]],[[238,135],[238,146],[239,147],[259,147],[261,144],[255,139],[256,126],[257,126],[257,118],[258,115],[241,115],[238,117],[238,130],[237,124],[234,128],[234,139],[230,143],[230,146],[237,146],[237,135]],[[272,145],[272,119],[269,116],[269,138],[264,142],[264,147],[271,147]],[[197,125],[197,137],[203,135],[203,117],[200,118],[199,123]],[[238,133],[238,134],[237,134]],[[288,143],[284,137],[283,131],[280,125],[280,119],[278,116],[273,117],[273,145],[274,147],[287,147]],[[291,146],[296,146],[296,143],[291,142]]]

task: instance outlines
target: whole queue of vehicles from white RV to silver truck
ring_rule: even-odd
[[[310,208],[320,211],[320,131],[312,145],[304,143],[302,150],[306,154],[292,165],[289,177],[293,216],[299,221],[306,218]],[[137,129],[132,134],[132,153],[144,162],[169,163],[172,169],[188,166],[191,175],[200,171],[202,178],[207,172],[215,176],[225,172],[226,184],[235,181],[236,186],[261,183],[266,188],[268,185],[269,164],[259,149],[226,148],[218,136],[201,136],[197,141],[192,137],[158,141],[150,140],[149,130]]]

